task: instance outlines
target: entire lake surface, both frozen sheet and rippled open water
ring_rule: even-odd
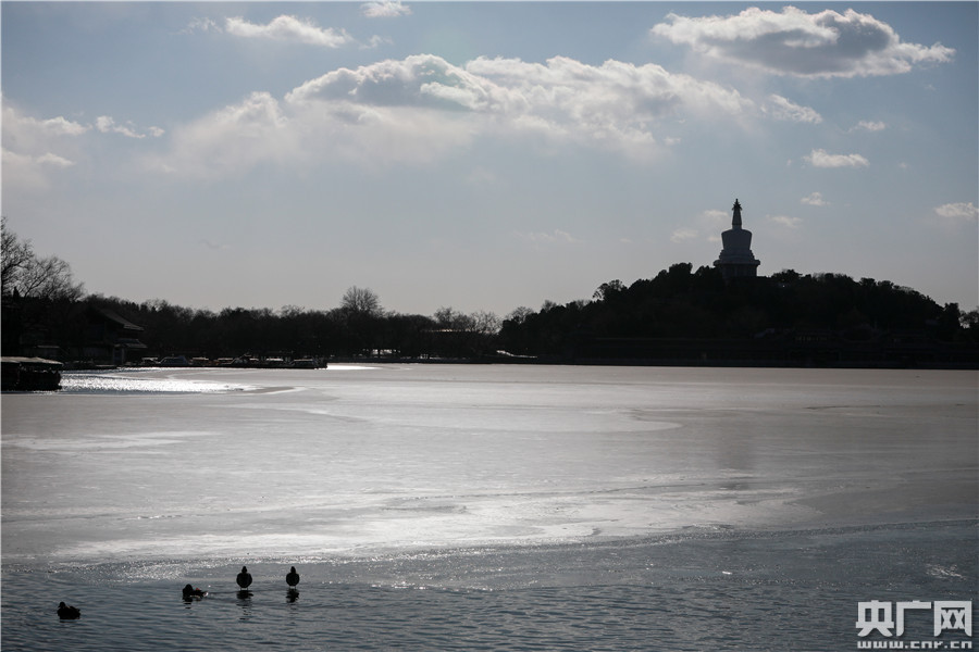
[[[3,650],[972,643],[926,610],[900,639],[856,622],[870,600],[976,601],[975,372],[336,365],[63,387],[2,397]],[[185,602],[188,582],[208,595]],[[59,620],[62,600],[82,617]]]

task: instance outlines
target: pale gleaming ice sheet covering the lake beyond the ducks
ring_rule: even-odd
[[[976,375],[357,365],[2,399],[7,562],[975,517]]]

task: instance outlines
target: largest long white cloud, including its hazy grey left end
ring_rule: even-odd
[[[817,120],[788,100],[777,103],[793,120]],[[557,57],[545,63],[476,59],[458,66],[418,54],[336,68],[281,100],[252,93],[175,129],[171,153],[154,164],[210,175],[263,161],[427,162],[479,138],[512,139],[548,152],[598,148],[643,160],[679,142],[662,134],[679,118],[757,113],[735,90],[655,64],[588,65]]]

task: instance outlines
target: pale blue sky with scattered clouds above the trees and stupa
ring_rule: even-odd
[[[979,303],[977,2],[8,2],[2,212],[91,293],[500,317],[710,265]]]

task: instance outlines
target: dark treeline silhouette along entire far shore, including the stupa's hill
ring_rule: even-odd
[[[85,361],[99,322],[131,323],[140,356],[384,358],[497,362],[979,366],[979,309],[939,305],[887,280],[841,274],[727,281],[678,263],[630,286],[602,284],[590,300],[505,319],[443,308],[434,315],[381,308],[351,287],[330,310],[195,310],[164,300],[86,294],[55,256],[40,259],[3,221],[2,350]],[[121,321],[121,322],[120,322]],[[104,327],[104,326],[103,326]],[[123,328],[126,330],[125,328]],[[104,340],[104,334],[102,339]],[[137,353],[138,351],[138,353]],[[97,362],[97,361],[94,361]]]

